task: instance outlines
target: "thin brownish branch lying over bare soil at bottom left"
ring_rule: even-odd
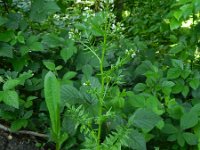
[[[14,134],[27,134],[27,135],[32,135],[32,136],[37,136],[37,137],[41,137],[41,138],[49,138],[48,135],[46,134],[41,134],[41,133],[38,133],[38,132],[33,132],[33,131],[28,131],[28,130],[20,130],[20,131],[17,131],[17,132],[13,132],[11,131],[10,128],[0,124],[0,129],[1,130],[4,130],[6,132],[11,132],[11,133],[14,133]]]

